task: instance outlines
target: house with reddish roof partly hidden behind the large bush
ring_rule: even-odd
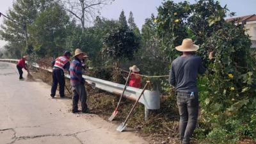
[[[252,46],[256,48],[256,15],[246,15],[243,17],[236,17],[232,19],[227,19],[227,22],[236,21],[238,24],[244,24],[246,28],[245,33],[250,36],[252,41]]]

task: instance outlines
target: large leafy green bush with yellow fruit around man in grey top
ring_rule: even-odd
[[[255,125],[248,125],[256,111],[255,59],[243,25],[225,22],[227,11],[213,0],[166,1],[154,20],[159,45],[171,62],[179,56],[175,46],[183,38],[193,38],[200,46],[197,54],[207,72],[198,77],[202,127],[196,137],[207,138],[204,143],[236,143],[255,136]],[[209,52],[213,52],[212,60]],[[164,90],[168,89],[164,86]]]

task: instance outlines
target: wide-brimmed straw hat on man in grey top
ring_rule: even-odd
[[[194,45],[190,38],[185,38],[182,41],[182,45],[175,47],[177,51],[197,51],[199,49],[198,45]]]

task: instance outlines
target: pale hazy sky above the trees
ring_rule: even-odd
[[[0,12],[6,13],[8,8],[11,8],[13,0],[0,0]],[[180,2],[182,0],[173,0]],[[188,0],[189,3],[195,3],[195,0]],[[236,12],[237,16],[256,14],[256,0],[219,0],[222,6],[227,4],[230,12]],[[137,26],[141,29],[146,18],[150,17],[151,13],[157,15],[157,7],[161,5],[161,0],[115,0],[111,5],[104,6],[101,15],[108,19],[118,19],[122,10],[125,12],[126,18],[131,11]],[[3,22],[3,17],[0,17],[0,24]],[[0,41],[0,47],[5,42]]]

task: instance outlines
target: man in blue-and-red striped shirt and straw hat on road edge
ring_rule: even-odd
[[[77,103],[78,100],[80,99],[81,101],[81,107],[82,107],[82,112],[83,113],[88,113],[88,107],[86,104],[86,90],[84,83],[83,75],[82,75],[82,70],[83,70],[83,59],[88,57],[86,53],[82,52],[80,49],[76,49],[75,51],[75,56],[74,60],[72,60],[69,71],[70,71],[70,83],[72,86],[72,91],[74,93],[73,95],[73,106],[72,106],[72,113],[77,113],[78,107]]]

